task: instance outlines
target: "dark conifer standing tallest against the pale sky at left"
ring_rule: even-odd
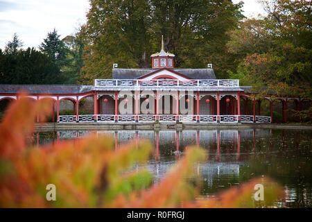
[[[59,67],[65,64],[67,48],[64,46],[64,42],[60,40],[60,35],[58,35],[55,28],[52,32],[48,33],[39,48]]]

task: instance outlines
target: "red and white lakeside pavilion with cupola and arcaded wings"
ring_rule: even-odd
[[[164,51],[151,56],[151,69],[118,69],[114,65],[112,79],[96,79],[94,85],[0,85],[0,101],[19,99],[28,92],[31,99],[51,98],[58,123],[270,123],[274,101],[270,101],[270,117],[256,112],[256,100],[239,80],[216,79],[214,69],[176,69],[172,53]],[[80,114],[80,101],[93,97],[93,113]],[[294,99],[300,104],[300,99]],[[283,120],[287,121],[288,98],[283,104]],[[60,115],[60,101],[73,102],[71,115]],[[245,104],[241,112],[241,101]],[[248,110],[248,101],[252,109]],[[259,103],[259,101],[258,101]],[[297,104],[296,103],[296,104]],[[142,110],[142,107],[147,108]],[[298,105],[300,108],[300,105]],[[121,110],[122,108],[122,110]],[[185,112],[187,110],[187,112]]]

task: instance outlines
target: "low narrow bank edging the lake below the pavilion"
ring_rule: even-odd
[[[312,125],[297,123],[36,123],[35,131],[58,130],[211,130],[272,128],[312,130]]]

